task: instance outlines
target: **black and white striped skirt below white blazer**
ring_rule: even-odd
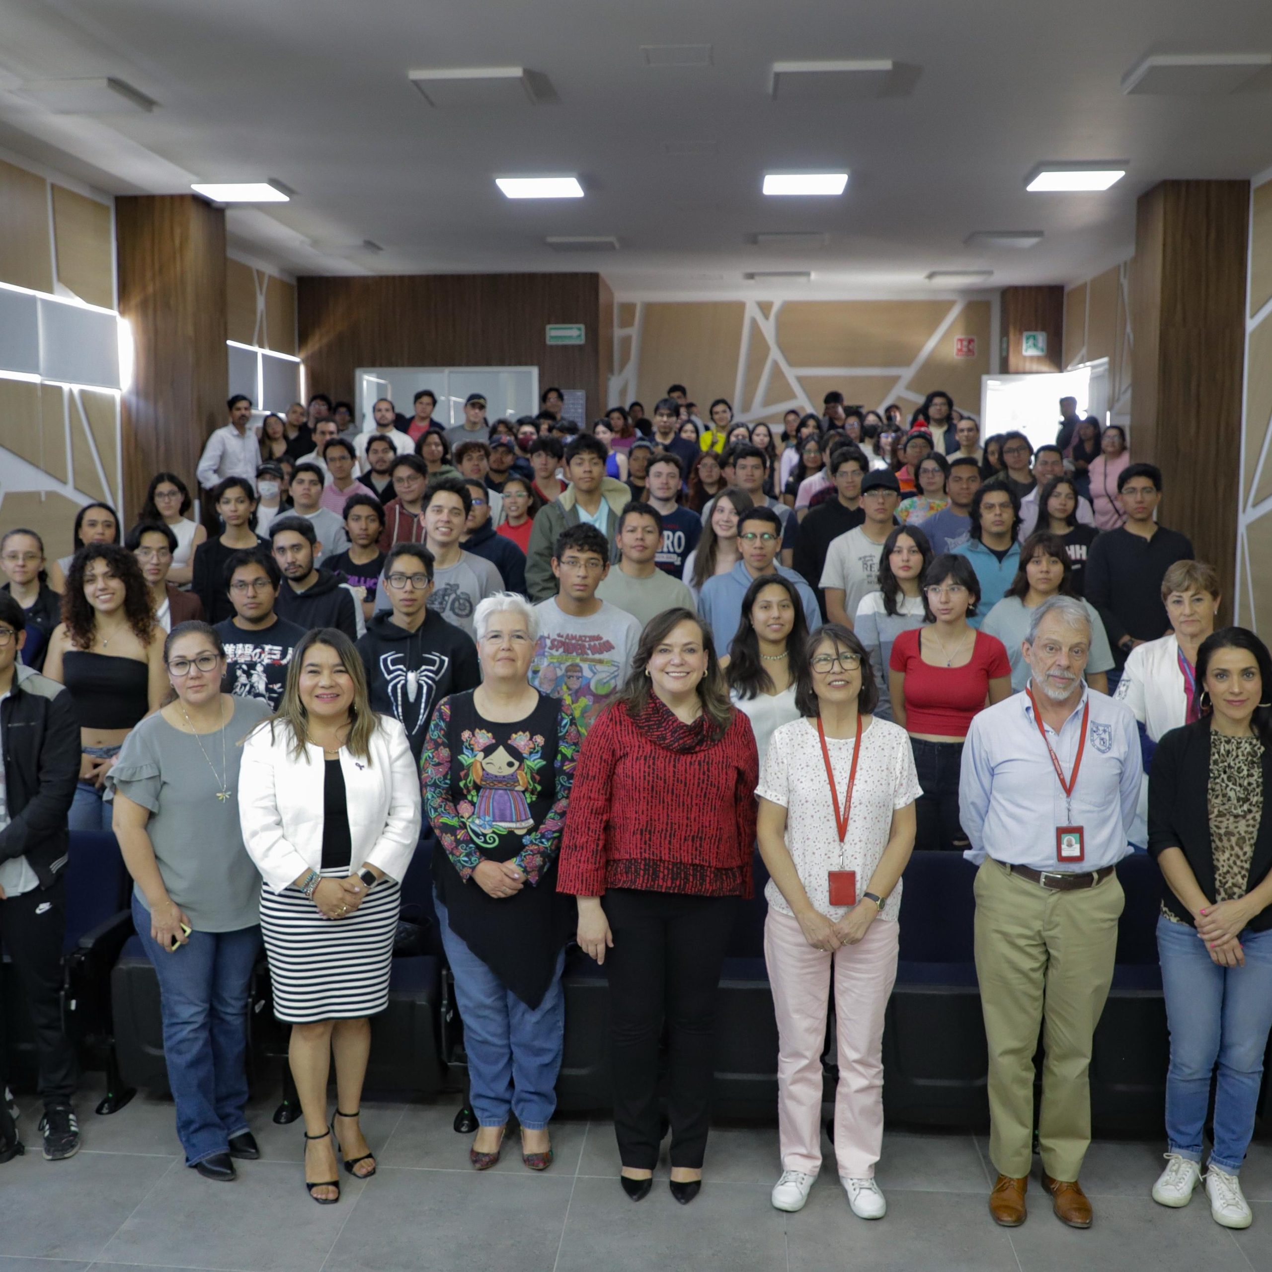
[[[326,870],[340,878],[346,870]],[[326,918],[299,888],[261,888],[261,934],[270,959],[273,1014],[289,1024],[349,1020],[389,1001],[402,888],[382,879],[343,918]]]

